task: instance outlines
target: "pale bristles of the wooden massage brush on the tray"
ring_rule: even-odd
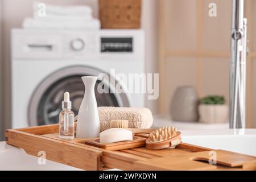
[[[155,131],[152,131],[149,134],[150,140],[152,142],[161,142],[164,140],[171,139],[172,137],[175,137],[177,133],[176,127],[161,127],[160,129],[156,129]]]

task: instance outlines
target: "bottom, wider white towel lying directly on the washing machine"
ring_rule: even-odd
[[[48,28],[48,29],[99,29],[100,20],[91,19],[86,21],[72,21],[72,20],[59,20],[59,21],[49,21],[40,20],[33,18],[26,18],[23,20],[23,28],[28,29],[38,29],[38,28]]]

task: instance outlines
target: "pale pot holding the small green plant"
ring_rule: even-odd
[[[200,122],[223,123],[228,122],[229,108],[227,105],[199,105]]]

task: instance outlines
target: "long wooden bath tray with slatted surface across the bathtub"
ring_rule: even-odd
[[[6,130],[5,137],[6,143],[23,148],[27,154],[38,156],[39,151],[44,151],[48,160],[87,170],[256,170],[255,156],[192,144],[181,143],[175,149],[111,151],[85,144],[92,139],[61,140],[58,133],[59,125],[45,125]],[[208,162],[213,154],[217,165]]]

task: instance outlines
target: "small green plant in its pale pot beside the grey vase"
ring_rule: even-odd
[[[222,123],[228,121],[228,106],[223,96],[207,96],[200,100],[200,122]]]

